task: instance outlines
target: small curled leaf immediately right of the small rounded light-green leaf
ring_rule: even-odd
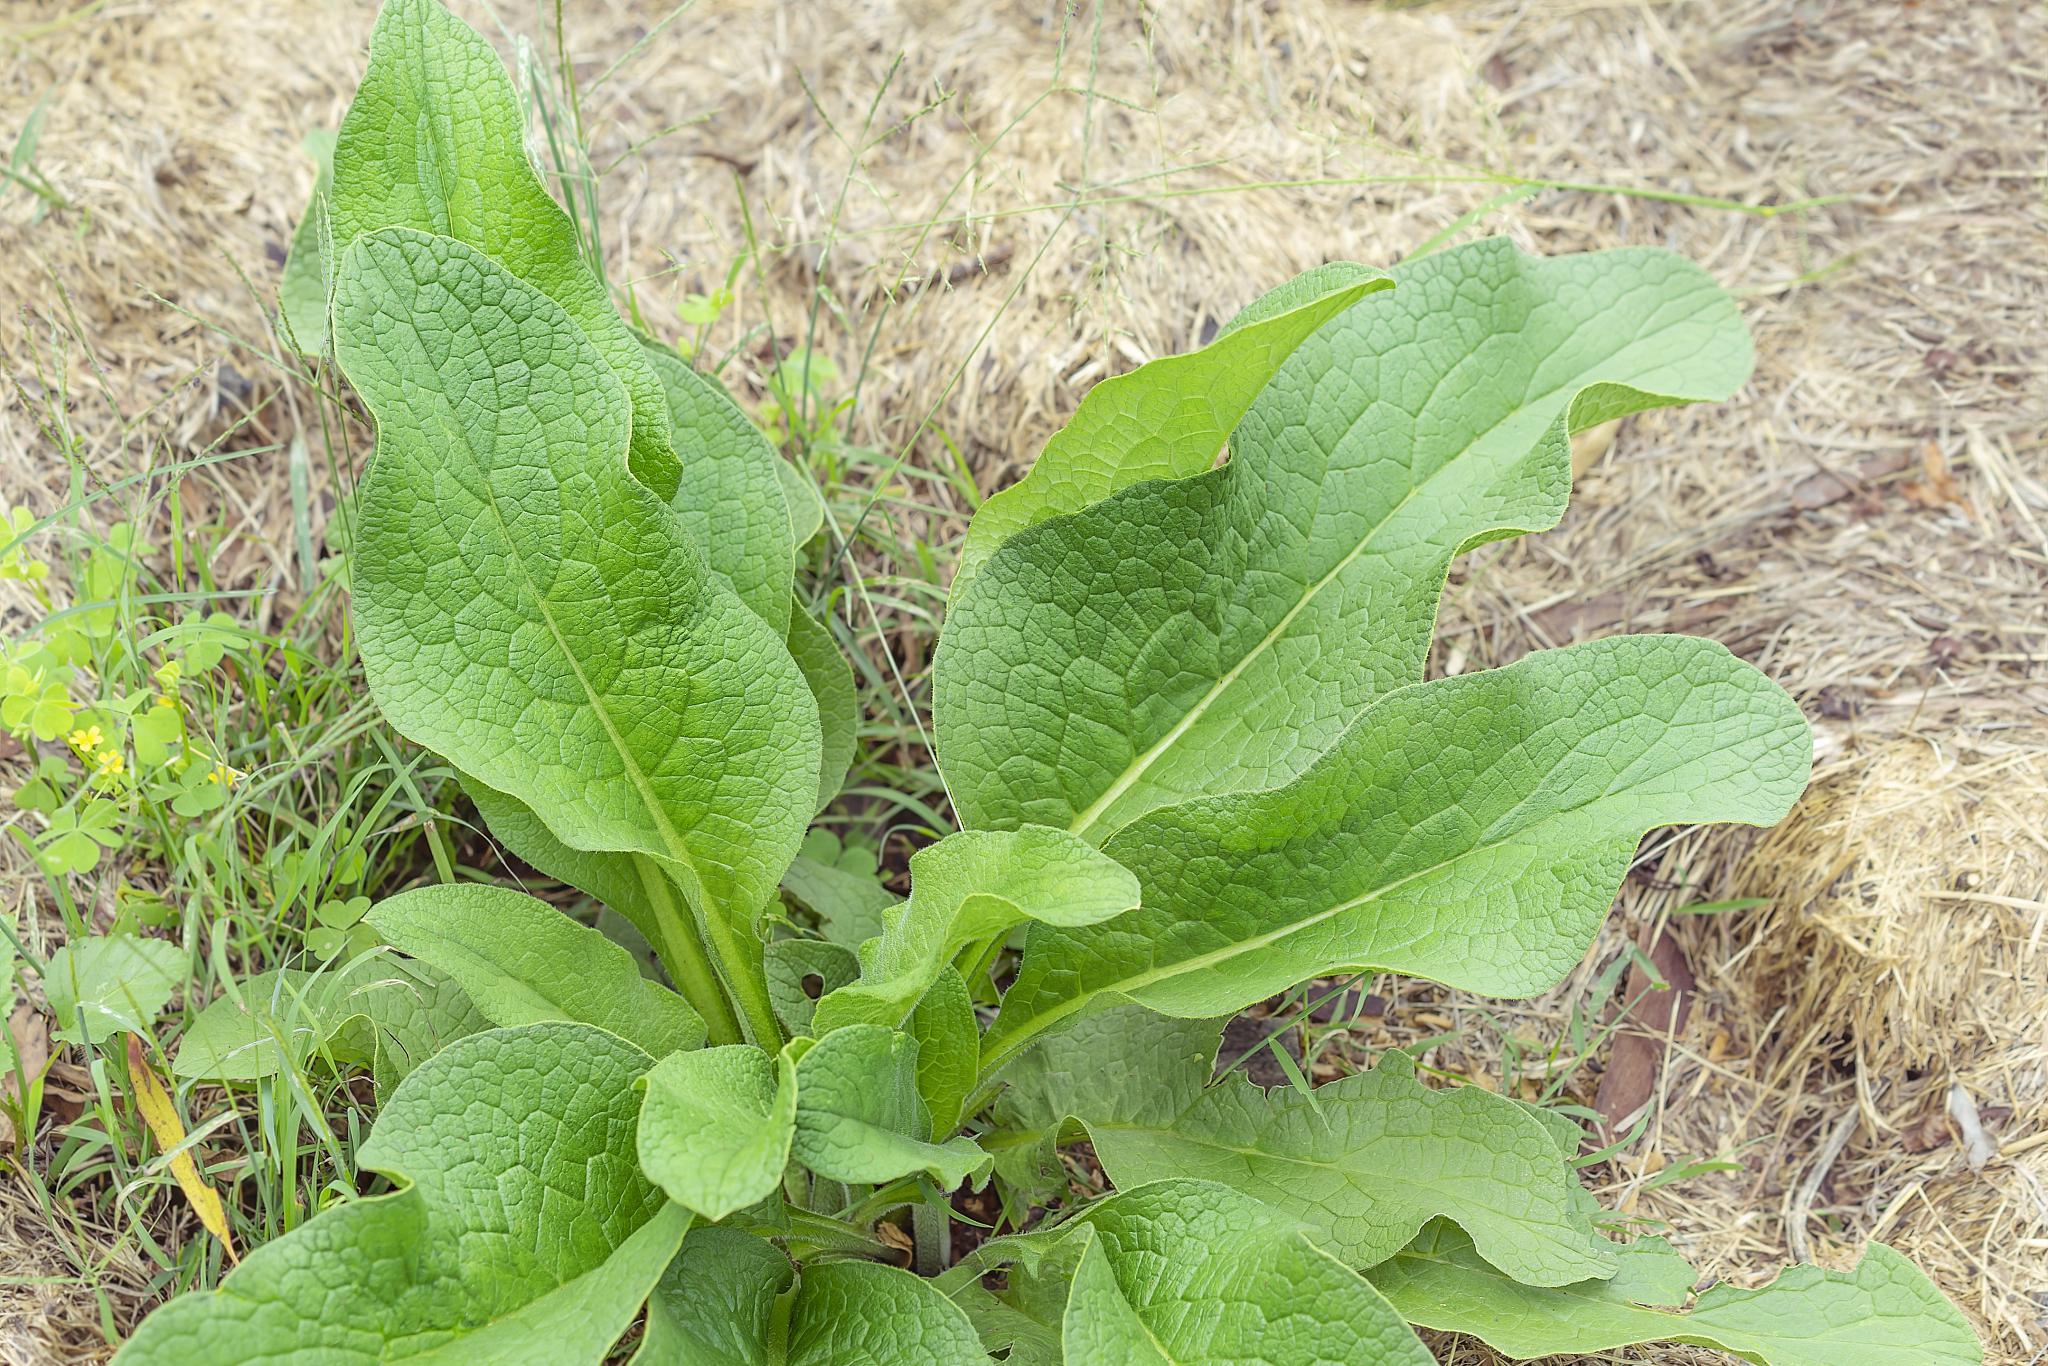
[[[932,1114],[918,1094],[918,1040],[879,1024],[836,1030],[801,1053],[793,1151],[834,1182],[922,1171],[952,1190],[989,1171],[989,1155],[973,1139],[932,1143]]]

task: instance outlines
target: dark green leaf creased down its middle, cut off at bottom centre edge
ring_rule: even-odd
[[[788,1305],[776,1343],[776,1307]],[[633,1366],[987,1366],[973,1325],[930,1282],[874,1262],[807,1266],[733,1229],[694,1229],[653,1298]]]

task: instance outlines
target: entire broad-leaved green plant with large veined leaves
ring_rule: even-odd
[[[242,983],[178,1071],[373,1067],[358,1165],[389,1190],[123,1362],[602,1362],[637,1321],[645,1366],[1430,1362],[1413,1325],[1978,1360],[1882,1245],[1696,1292],[1579,1186],[1569,1118],[1399,1051],[1214,1077],[1231,1014],[1317,977],[1540,993],[1645,831],[1800,795],[1798,709],[1710,641],[1423,682],[1452,557],[1561,518],[1575,430],[1743,383],[1702,270],[1505,242],[1325,266],[1098,385],[967,532],[934,661],[963,827],[897,901],[805,846],[856,721],[793,592],[815,498],[621,319],[522,129],[475,33],[391,0],[285,319],[377,428],[377,707],[666,977],[453,883],[375,905],[385,948],[346,969]],[[1112,1194],[1071,1190],[1083,1139]],[[948,1196],[989,1182],[1001,1235],[954,1260]]]

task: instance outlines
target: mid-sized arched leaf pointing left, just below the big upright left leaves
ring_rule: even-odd
[[[705,1042],[688,1001],[618,944],[508,887],[418,887],[371,907],[387,944],[455,979],[492,1024],[582,1020],[649,1057]]]

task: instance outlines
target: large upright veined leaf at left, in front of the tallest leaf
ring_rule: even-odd
[[[817,799],[817,707],[780,633],[592,459],[625,449],[625,391],[547,295],[387,229],[348,248],[334,311],[377,418],[354,573],[377,705],[561,844],[662,860],[748,963]]]

